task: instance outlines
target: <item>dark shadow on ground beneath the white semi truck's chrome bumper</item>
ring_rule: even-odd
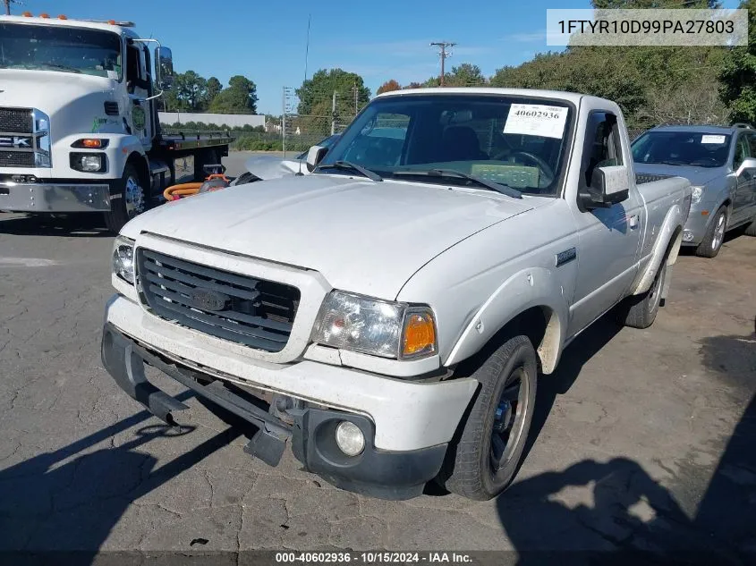
[[[102,214],[7,215],[0,213],[0,234],[15,236],[105,237],[113,236]]]

